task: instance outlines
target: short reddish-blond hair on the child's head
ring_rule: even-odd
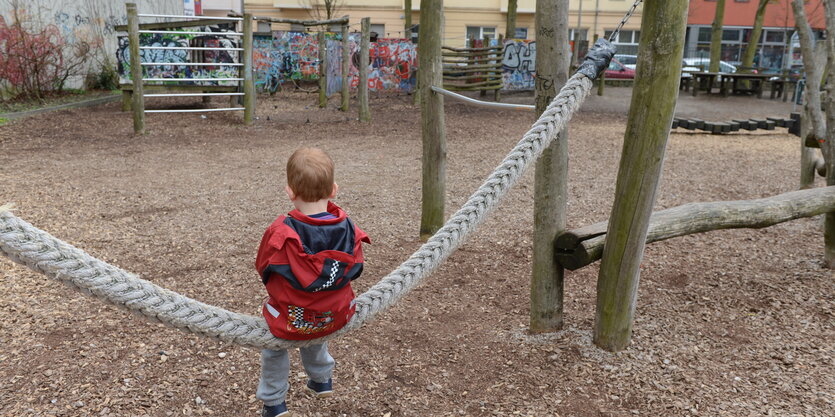
[[[333,193],[333,160],[318,148],[299,148],[287,160],[287,185],[306,202]]]

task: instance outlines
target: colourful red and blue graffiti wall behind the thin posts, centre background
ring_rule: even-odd
[[[342,35],[328,33],[327,94],[342,90]],[[349,35],[351,88],[359,84],[359,34]],[[293,80],[319,78],[319,42],[315,33],[274,31],[257,36],[253,65],[256,85],[275,90]],[[369,49],[368,86],[371,91],[412,91],[415,86],[417,48],[405,39],[379,39]]]

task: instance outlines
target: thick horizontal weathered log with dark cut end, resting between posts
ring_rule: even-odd
[[[646,243],[725,229],[759,229],[835,212],[835,186],[792,191],[756,200],[689,203],[652,213]],[[554,243],[557,259],[567,269],[600,259],[608,222],[570,230]]]

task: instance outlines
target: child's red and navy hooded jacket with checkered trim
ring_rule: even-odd
[[[354,315],[351,281],[362,274],[368,235],[336,204],[335,219],[293,210],[261,239],[255,268],[267,287],[263,314],[276,337],[306,340],[341,329]]]

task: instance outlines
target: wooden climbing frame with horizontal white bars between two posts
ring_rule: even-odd
[[[137,11],[135,3],[128,3],[127,15],[128,24],[126,26],[118,26],[116,30],[127,31],[128,33],[128,48],[130,51],[130,75],[131,83],[121,85],[123,94],[123,109],[127,109],[128,103],[133,110],[133,129],[135,133],[141,133],[145,130],[145,113],[183,113],[183,112],[205,112],[205,111],[243,111],[244,122],[252,123],[253,112],[255,108],[255,84],[252,78],[252,16],[244,15],[244,17],[214,17],[204,18],[195,16],[179,16],[179,15],[157,15],[157,14],[140,14]],[[183,19],[180,21],[158,22],[158,23],[139,23],[140,18],[152,19]],[[242,23],[241,31],[207,31],[207,30],[183,30],[187,28],[205,28],[219,23],[223,24],[237,24]],[[162,35],[162,36],[177,36],[182,37],[183,42],[187,46],[177,44],[177,46],[170,46],[171,44],[157,46],[157,45],[141,45],[140,37],[147,35]],[[188,38],[191,36],[191,38]],[[217,37],[234,37],[241,39],[239,42],[233,43],[231,46],[200,46],[207,40],[215,40]],[[242,43],[242,45],[241,45]],[[154,60],[152,52],[174,52],[188,51],[188,61],[183,62],[164,62]],[[142,52],[145,52],[143,54]],[[210,62],[205,60],[207,52],[214,54],[229,53],[237,54],[237,59],[233,58],[234,62]],[[182,55],[186,55],[183,53]],[[144,57],[144,59],[143,59]],[[161,67],[187,67],[198,68],[198,77],[188,78],[168,78],[147,76],[146,73],[153,71],[146,71],[150,68]],[[231,67],[237,69],[237,74],[232,75],[218,75],[213,76],[208,71],[199,69],[217,68],[217,67]],[[189,70],[188,73],[192,71]],[[221,85],[221,83],[225,85]],[[151,92],[146,93],[145,90]],[[164,110],[147,110],[145,108],[145,97],[203,97],[204,101],[210,99],[212,96],[230,96],[232,99],[230,107],[211,108],[211,109],[164,109]],[[243,107],[240,106],[237,98],[243,97]]]

